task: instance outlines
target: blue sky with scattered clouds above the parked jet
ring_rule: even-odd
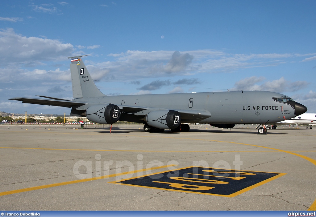
[[[106,95],[263,90],[316,113],[316,1],[0,2],[0,111],[72,99],[69,56]]]

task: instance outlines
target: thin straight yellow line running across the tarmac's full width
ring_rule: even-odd
[[[223,141],[218,141],[223,142]],[[229,143],[229,142],[226,142]],[[64,151],[126,151],[126,152],[184,152],[184,153],[266,153],[279,151],[167,151],[167,150],[94,150],[94,149],[47,149],[47,148],[22,148],[22,147],[0,147],[0,149],[36,149],[36,150],[64,150]],[[291,151],[291,152],[316,152],[315,151]]]

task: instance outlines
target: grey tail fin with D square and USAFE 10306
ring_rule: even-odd
[[[81,57],[82,56],[68,57],[71,58],[70,72],[73,97],[86,98],[106,96],[95,86]]]

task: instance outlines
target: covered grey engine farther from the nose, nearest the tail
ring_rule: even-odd
[[[121,111],[117,105],[93,105],[87,108],[88,120],[99,124],[113,124],[119,120]]]

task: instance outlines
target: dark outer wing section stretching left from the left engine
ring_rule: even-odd
[[[53,105],[53,106],[61,106],[71,108],[73,106],[82,106],[88,104],[86,102],[76,102],[71,100],[64,99],[39,99],[39,98],[23,98],[23,97],[14,97],[10,100],[22,101],[22,103],[31,103],[31,104],[39,104],[39,105]]]

